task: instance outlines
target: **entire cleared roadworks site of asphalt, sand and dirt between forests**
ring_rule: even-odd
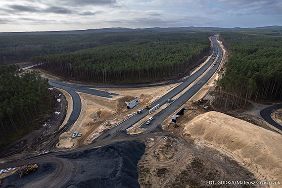
[[[37,67],[55,106],[42,126],[0,151],[3,188],[279,188],[282,129],[261,116],[215,107],[229,52],[219,36],[181,80],[92,86]],[[74,118],[76,117],[76,118]],[[282,125],[282,110],[271,113]],[[207,181],[255,182],[252,185]]]

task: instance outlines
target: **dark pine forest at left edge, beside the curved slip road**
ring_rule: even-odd
[[[51,110],[48,82],[39,72],[20,73],[18,66],[0,66],[0,144],[33,129],[32,120]]]

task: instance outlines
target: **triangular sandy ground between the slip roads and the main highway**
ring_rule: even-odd
[[[101,133],[130,117],[130,114],[145,107],[139,104],[134,109],[127,109],[125,101],[131,101],[138,96],[141,102],[151,103],[178,85],[141,89],[105,89],[105,91],[119,94],[113,96],[113,98],[78,93],[82,101],[82,111],[72,128],[60,136],[60,141],[56,145],[57,148],[68,149],[91,143]],[[82,133],[83,136],[72,139],[71,136],[75,131]]]

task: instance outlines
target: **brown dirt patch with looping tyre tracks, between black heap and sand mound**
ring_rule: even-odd
[[[206,180],[256,179],[233,158],[207,145],[172,137],[154,139],[138,163],[141,188],[218,188],[206,185]]]

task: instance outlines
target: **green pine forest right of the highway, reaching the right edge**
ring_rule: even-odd
[[[249,99],[281,100],[282,37],[230,32],[220,36],[231,52],[219,81],[225,106],[232,102],[232,107],[242,107]]]

